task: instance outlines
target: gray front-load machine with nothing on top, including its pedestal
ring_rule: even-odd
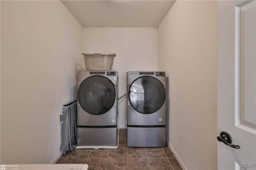
[[[127,72],[127,146],[165,146],[165,89],[164,71]]]

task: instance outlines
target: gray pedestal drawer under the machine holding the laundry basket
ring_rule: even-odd
[[[117,146],[117,128],[77,128],[78,146]]]

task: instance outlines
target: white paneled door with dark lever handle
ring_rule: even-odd
[[[256,1],[218,0],[217,135],[223,131],[234,148],[216,139],[218,169],[255,170]]]

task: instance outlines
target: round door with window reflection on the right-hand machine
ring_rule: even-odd
[[[137,112],[142,114],[155,113],[164,105],[164,85],[155,77],[139,77],[130,85],[128,98],[130,105]]]

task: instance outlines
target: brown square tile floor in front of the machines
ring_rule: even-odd
[[[56,164],[88,164],[89,170],[182,170],[170,148],[131,148],[126,129],[120,129],[117,149],[76,149]]]

